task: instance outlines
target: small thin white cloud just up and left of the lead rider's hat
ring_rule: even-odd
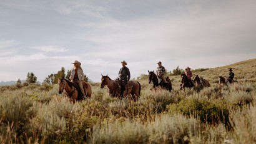
[[[42,50],[44,52],[67,52],[68,51],[66,47],[59,47],[59,46],[35,46],[35,47],[31,47],[31,49]]]

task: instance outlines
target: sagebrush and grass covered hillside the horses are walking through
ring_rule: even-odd
[[[219,87],[235,68],[239,84]],[[92,98],[72,104],[57,85],[0,87],[0,143],[255,143],[256,59],[194,72],[204,89],[151,92],[147,79],[138,102],[112,98],[92,85]]]

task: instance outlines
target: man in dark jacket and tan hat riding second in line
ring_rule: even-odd
[[[125,60],[123,60],[122,62],[122,68],[119,70],[119,77],[121,79],[121,96],[124,96],[124,90],[126,89],[126,84],[127,82],[129,82],[130,80],[130,70],[128,69],[128,67],[126,67],[127,63]]]

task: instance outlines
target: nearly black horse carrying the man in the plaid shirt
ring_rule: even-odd
[[[147,70],[149,72],[149,70]],[[170,82],[169,77],[166,77],[167,84],[164,85],[164,82],[160,80],[157,75],[154,73],[154,70],[149,72],[149,84],[153,83],[153,88],[156,90],[157,87],[162,87],[166,90],[172,90],[172,82]]]

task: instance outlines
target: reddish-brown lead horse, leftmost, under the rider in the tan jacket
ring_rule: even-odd
[[[83,97],[81,90],[79,89],[79,86],[74,84],[73,82],[70,82],[67,79],[58,80],[59,84],[59,94],[62,94],[63,90],[66,91],[67,97],[72,99],[72,102],[75,103],[76,100],[84,100],[85,97]],[[84,86],[84,92],[86,93],[86,98],[91,98],[92,96],[92,87],[88,82],[82,82],[82,85]]]

